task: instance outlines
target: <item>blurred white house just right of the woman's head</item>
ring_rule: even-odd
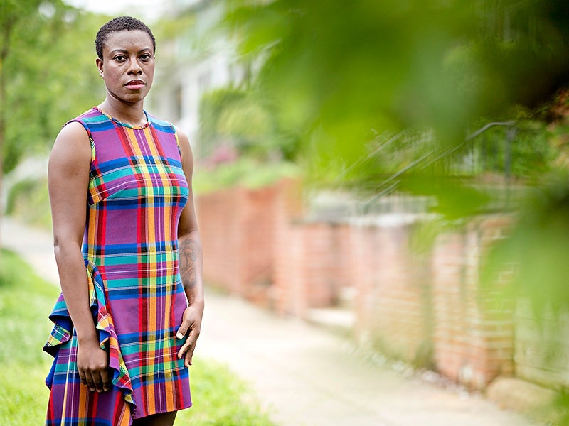
[[[223,16],[224,1],[169,0],[164,16],[181,26],[174,40],[160,41],[150,109],[174,122],[199,150],[199,102],[203,93],[243,80],[235,45],[227,33],[216,29]]]

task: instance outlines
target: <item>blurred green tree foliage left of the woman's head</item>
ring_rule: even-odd
[[[0,149],[6,173],[23,155],[47,153],[65,121],[103,96],[94,44],[102,19],[60,0],[1,2]]]

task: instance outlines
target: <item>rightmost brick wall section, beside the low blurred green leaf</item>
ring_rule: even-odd
[[[432,256],[435,365],[472,388],[514,371],[512,307],[479,279],[484,251],[507,225],[484,219],[462,234],[442,235]]]

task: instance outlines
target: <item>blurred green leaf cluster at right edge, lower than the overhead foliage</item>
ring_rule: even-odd
[[[509,238],[489,257],[486,283],[496,275],[513,271],[504,295],[528,297],[540,318],[544,310],[569,310],[569,188],[567,177],[535,188]]]

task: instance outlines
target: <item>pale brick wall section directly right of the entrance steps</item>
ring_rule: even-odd
[[[432,327],[430,271],[410,251],[409,237],[409,226],[353,226],[356,332],[389,355],[425,364]]]

